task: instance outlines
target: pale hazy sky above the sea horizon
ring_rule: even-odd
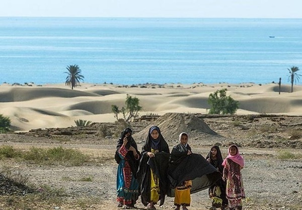
[[[302,18],[302,0],[1,0],[0,17]]]

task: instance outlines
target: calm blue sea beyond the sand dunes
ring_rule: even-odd
[[[0,84],[288,83],[302,19],[0,18]],[[300,81],[301,82],[301,81]]]

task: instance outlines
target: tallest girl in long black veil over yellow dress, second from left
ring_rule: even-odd
[[[156,209],[154,205],[159,200],[160,205],[164,204],[169,183],[167,178],[169,156],[169,146],[160,128],[152,126],[142,147],[137,171],[141,202],[147,209]]]

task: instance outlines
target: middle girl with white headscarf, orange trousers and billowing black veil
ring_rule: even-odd
[[[191,203],[191,194],[207,189],[221,175],[202,155],[192,153],[187,133],[181,133],[179,141],[171,152],[168,170],[171,187],[168,196],[175,197],[175,210],[179,210],[180,206],[187,210]]]

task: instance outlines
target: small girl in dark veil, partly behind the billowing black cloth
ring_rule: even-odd
[[[221,174],[223,173],[223,159],[218,146],[211,147],[206,160],[217,168]],[[215,210],[216,208],[221,208],[223,210],[228,207],[228,199],[225,197],[225,182],[222,178],[209,187],[209,197],[213,200],[212,206],[209,209]]]

